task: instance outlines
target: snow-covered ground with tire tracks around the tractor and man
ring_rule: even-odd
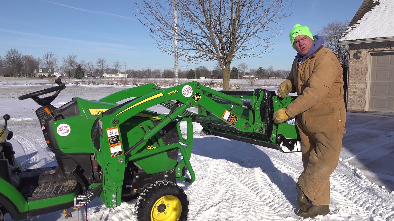
[[[249,86],[241,80],[230,85]],[[276,90],[282,82],[282,79],[269,80],[275,80],[265,86],[271,90]],[[55,166],[56,160],[45,144],[35,116],[39,106],[32,99],[19,101],[17,97],[50,87],[36,83],[53,84],[53,81],[0,77],[0,115],[11,116],[9,129],[14,132],[11,143],[25,168]],[[74,96],[100,99],[127,87],[134,86],[75,85],[70,81],[52,104],[59,107]],[[151,110],[168,112],[161,106]],[[344,136],[340,164],[331,175],[330,213],[312,219],[296,215],[295,184],[302,171],[300,153],[283,154],[266,147],[206,136],[200,131],[201,126],[194,124],[191,165],[196,180],[191,184],[178,182],[190,202],[188,220],[394,221],[394,116],[348,112],[347,119],[348,133]],[[89,221],[134,221],[134,204],[131,201],[108,209],[95,199],[87,205],[86,213],[82,208],[72,210],[73,216],[67,220],[85,220],[87,216]],[[13,219],[6,215],[6,220]],[[65,219],[62,211],[58,211],[27,220]]]

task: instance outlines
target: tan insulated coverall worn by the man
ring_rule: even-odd
[[[297,115],[304,171],[301,190],[314,205],[330,204],[329,178],[335,170],[346,133],[342,66],[336,54],[323,46],[301,64],[294,59],[287,77],[298,97],[286,107]]]

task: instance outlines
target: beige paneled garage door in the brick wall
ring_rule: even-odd
[[[394,113],[394,52],[372,54],[369,110]]]

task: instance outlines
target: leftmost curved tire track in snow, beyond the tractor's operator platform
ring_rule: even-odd
[[[39,157],[37,155],[37,149],[34,145],[29,142],[26,138],[14,134],[13,138],[22,146],[25,155],[23,156],[25,160],[20,162],[25,169],[38,168],[37,163],[39,162]]]

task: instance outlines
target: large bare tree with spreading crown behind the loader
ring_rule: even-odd
[[[139,3],[138,3],[139,2]],[[175,4],[174,4],[175,3]],[[230,87],[234,59],[270,52],[271,39],[281,33],[287,0],[134,0],[134,15],[156,42],[156,47],[186,62],[218,61],[223,90]],[[174,5],[177,28],[174,28]]]

